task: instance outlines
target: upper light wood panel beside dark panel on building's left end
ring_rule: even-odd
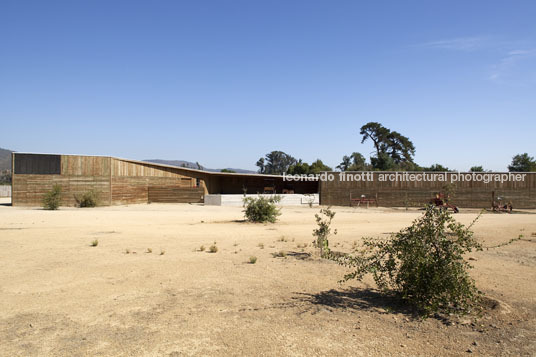
[[[62,155],[61,174],[71,176],[110,176],[111,158]]]

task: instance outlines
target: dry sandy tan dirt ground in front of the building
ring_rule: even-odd
[[[345,268],[311,247],[317,211],[251,224],[237,207],[0,205],[0,355],[536,355],[536,212],[482,216],[485,245],[528,240],[471,253],[494,303],[447,321],[414,318],[371,280],[339,284]],[[335,211],[339,250],[421,214]]]

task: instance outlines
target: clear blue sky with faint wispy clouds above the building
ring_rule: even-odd
[[[536,155],[534,1],[2,1],[0,147],[336,166],[359,128],[421,165]]]

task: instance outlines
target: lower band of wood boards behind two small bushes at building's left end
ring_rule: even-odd
[[[61,187],[61,205],[76,206],[76,196],[94,190],[99,205],[108,205],[110,183],[106,177],[62,175],[13,175],[13,206],[41,206],[43,196],[54,185]]]

